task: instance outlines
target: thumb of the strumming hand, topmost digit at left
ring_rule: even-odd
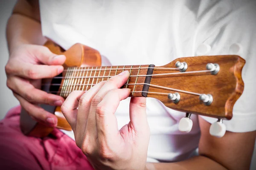
[[[65,55],[57,55],[52,53],[46,46],[40,46],[39,49],[38,46],[35,50],[39,52],[35,52],[35,57],[41,62],[46,65],[62,65],[64,64],[66,57]]]

